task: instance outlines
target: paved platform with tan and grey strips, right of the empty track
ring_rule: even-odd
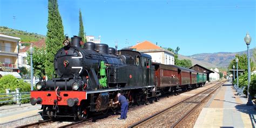
[[[254,107],[246,106],[247,98],[236,93],[231,83],[221,86],[199,114],[194,127],[255,127]]]

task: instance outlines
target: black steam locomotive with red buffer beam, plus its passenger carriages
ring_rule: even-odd
[[[41,104],[43,118],[73,117],[85,120],[89,113],[116,111],[117,93],[129,105],[145,104],[164,93],[204,85],[206,74],[175,65],[152,63],[151,56],[106,44],[68,37],[54,58],[53,77],[36,84],[30,103]]]

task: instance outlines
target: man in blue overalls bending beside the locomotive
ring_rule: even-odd
[[[121,117],[118,119],[126,119],[127,118],[127,111],[128,111],[128,102],[125,96],[121,95],[121,93],[117,93],[118,100],[113,104],[121,103]]]

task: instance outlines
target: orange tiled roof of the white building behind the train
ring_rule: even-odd
[[[156,44],[153,44],[149,41],[144,41],[142,43],[138,43],[134,46],[132,46],[132,49],[138,50],[146,50],[146,49],[161,49],[160,46],[157,46]]]

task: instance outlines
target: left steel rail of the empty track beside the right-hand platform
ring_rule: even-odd
[[[179,104],[181,104],[181,103],[183,103],[183,102],[185,102],[185,101],[188,100],[188,99],[191,99],[191,98],[193,98],[193,97],[196,97],[196,96],[200,95],[201,93],[204,93],[204,92],[206,92],[207,90],[210,90],[210,89],[212,89],[213,87],[215,87],[215,86],[217,86],[217,85],[219,85],[219,84],[221,84],[221,83],[224,83],[224,82],[216,83],[214,86],[210,87],[209,89],[206,89],[206,90],[204,90],[204,91],[198,93],[197,95],[188,97],[188,98],[182,100],[181,102],[176,103],[176,104],[174,104],[174,105],[172,105],[172,106],[170,106],[170,107],[167,107],[166,109],[164,109],[164,110],[162,110],[162,111],[160,111],[160,112],[154,113],[154,114],[152,114],[150,117],[147,117],[147,118],[145,118],[145,119],[143,119],[143,120],[140,120],[139,122],[134,123],[134,124],[132,124],[132,125],[129,126],[129,127],[136,127],[136,126],[139,125],[139,124],[145,123],[147,120],[149,120],[149,119],[151,119],[151,118],[153,118],[153,117],[155,117],[155,116],[157,116],[157,115],[159,115],[159,114],[161,114],[161,113],[163,113],[163,112],[165,112],[165,111],[167,111],[167,110],[169,110],[169,109],[171,109],[171,108],[173,108],[173,107],[175,107],[175,106],[177,106],[177,105],[179,105]],[[222,85],[222,84],[221,84],[221,85]],[[217,87],[217,89],[218,89],[218,87]]]

